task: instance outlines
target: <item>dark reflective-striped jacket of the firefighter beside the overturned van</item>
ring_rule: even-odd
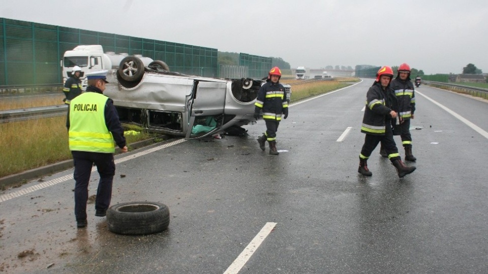
[[[281,121],[282,114],[288,111],[285,88],[279,82],[266,82],[259,89],[254,105],[255,112],[263,110],[264,120]]]

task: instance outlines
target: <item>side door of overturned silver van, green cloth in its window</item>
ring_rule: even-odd
[[[195,80],[186,139],[208,136],[222,127],[227,83]]]

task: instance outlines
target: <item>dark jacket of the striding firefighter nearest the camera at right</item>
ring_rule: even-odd
[[[386,126],[391,126],[392,123],[389,114],[392,110],[398,110],[398,102],[393,90],[389,85],[383,90],[381,84],[375,82],[366,94],[366,108],[362,118],[361,132],[384,135]]]

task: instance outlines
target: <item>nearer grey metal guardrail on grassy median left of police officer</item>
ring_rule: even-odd
[[[0,111],[0,124],[68,114],[68,105]]]

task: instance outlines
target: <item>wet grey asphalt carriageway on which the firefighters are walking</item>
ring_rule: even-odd
[[[245,138],[185,141],[118,163],[112,204],[165,203],[171,221],[160,233],[111,233],[93,203],[88,227],[77,229],[72,179],[1,201],[0,271],[223,273],[275,222],[239,273],[488,272],[488,139],[419,93],[484,131],[488,105],[420,86],[412,120],[417,170],[399,179],[377,148],[368,162],[373,176],[365,178],[357,173],[359,128],[371,84],[290,107],[279,156],[259,149],[261,120],[246,126]],[[97,182],[93,173],[90,195]]]

